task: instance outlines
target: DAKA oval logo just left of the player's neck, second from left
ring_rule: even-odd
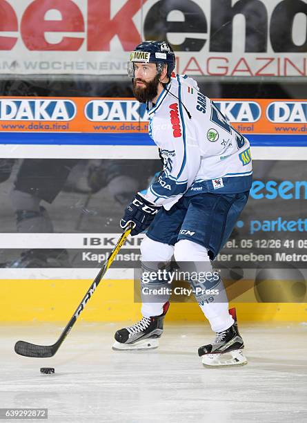
[[[91,122],[146,122],[146,104],[136,100],[91,100],[85,107]]]

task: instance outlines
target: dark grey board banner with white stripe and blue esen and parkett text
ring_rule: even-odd
[[[124,207],[146,189],[161,162],[1,159],[0,169],[1,277],[85,279],[107,259],[121,233]],[[232,281],[299,281],[293,289],[303,298],[306,199],[304,160],[256,160],[248,204],[215,268]],[[117,254],[117,279],[139,267],[142,238],[130,238]]]

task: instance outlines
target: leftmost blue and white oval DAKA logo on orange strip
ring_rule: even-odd
[[[0,100],[0,120],[68,121],[76,113],[71,100]]]

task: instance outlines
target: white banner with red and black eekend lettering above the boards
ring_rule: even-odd
[[[306,77],[306,0],[0,0],[0,73],[124,75],[143,39],[177,73]]]

